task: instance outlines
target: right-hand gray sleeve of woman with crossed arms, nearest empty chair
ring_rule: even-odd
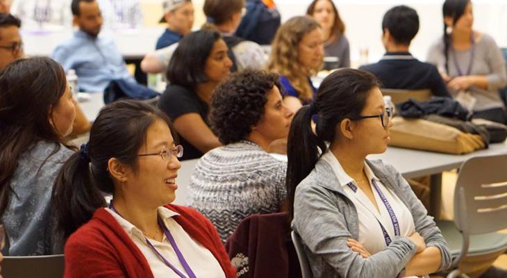
[[[396,173],[393,178],[406,198],[406,204],[409,205],[408,208],[414,219],[415,231],[424,238],[426,247],[434,246],[440,250],[441,261],[438,270],[447,270],[451,266],[451,252],[440,229],[438,229],[433,221],[433,217],[428,215],[426,208],[424,208],[422,202],[417,198],[412,188],[410,188],[406,179],[391,165],[386,165],[386,167],[389,172]]]

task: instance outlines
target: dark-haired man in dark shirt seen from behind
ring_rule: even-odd
[[[378,63],[360,70],[375,74],[383,88],[430,89],[433,95],[451,97],[437,68],[423,63],[408,52],[410,42],[419,31],[419,16],[407,6],[396,6],[385,13],[382,21],[382,42],[386,53]]]

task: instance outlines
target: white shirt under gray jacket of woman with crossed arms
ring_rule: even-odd
[[[385,247],[387,247],[387,245],[379,222],[382,223],[391,240],[394,238],[395,234],[388,209],[385,207],[379,193],[377,193],[375,188],[372,186],[376,204],[379,206],[379,211],[377,211],[376,207],[368,199],[365,193],[358,188],[357,182],[343,170],[342,165],[340,165],[340,162],[332,152],[326,152],[326,154],[322,156],[322,159],[331,165],[338,181],[340,181],[340,186],[342,186],[347,197],[349,197],[354,206],[356,206],[359,220],[359,243],[363,245],[370,254],[381,252],[385,249]],[[365,163],[365,173],[370,185],[372,184],[372,179],[374,179],[376,185],[379,187],[383,195],[385,195],[385,199],[387,199],[392,207],[392,210],[399,222],[400,236],[410,236],[413,234],[415,231],[414,220],[405,204],[401,202],[397,195],[392,193],[391,190],[381,183],[367,163]],[[349,183],[354,184],[358,190],[354,192],[354,190],[347,185]]]

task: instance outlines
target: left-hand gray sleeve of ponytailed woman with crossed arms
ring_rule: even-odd
[[[346,214],[340,212],[336,197],[324,188],[308,184],[296,188],[292,224],[310,249],[310,256],[321,256],[342,278],[397,277],[415,254],[415,244],[398,236],[385,250],[364,259],[347,246],[347,238],[352,236],[345,224]]]

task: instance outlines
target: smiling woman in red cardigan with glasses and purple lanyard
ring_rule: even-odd
[[[65,277],[236,277],[213,224],[169,204],[183,154],[172,130],[139,101],[101,110],[53,193]],[[103,193],[113,195],[106,208]]]

